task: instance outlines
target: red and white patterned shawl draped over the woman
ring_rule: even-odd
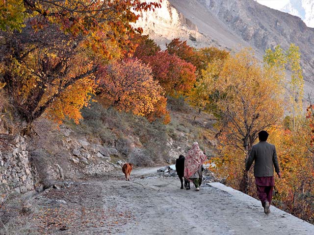
[[[192,148],[188,151],[184,161],[184,177],[189,179],[205,162],[206,155],[198,146],[198,142],[194,142]]]

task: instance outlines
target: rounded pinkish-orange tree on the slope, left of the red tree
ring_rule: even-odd
[[[151,69],[137,59],[114,62],[98,72],[99,101],[119,111],[149,117],[167,115],[166,99]]]

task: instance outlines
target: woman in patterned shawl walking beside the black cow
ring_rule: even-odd
[[[202,180],[202,165],[206,159],[207,157],[200,149],[198,142],[194,142],[192,148],[188,151],[185,157],[184,177],[193,182],[196,191],[200,190],[200,183]]]

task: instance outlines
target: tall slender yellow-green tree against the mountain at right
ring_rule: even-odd
[[[292,115],[292,129],[297,127],[297,119],[301,118],[303,113],[303,75],[302,68],[300,66],[301,54],[299,47],[291,44],[287,51],[284,51],[279,45],[274,50],[267,49],[263,60],[265,65],[274,68],[278,71],[278,74],[287,74],[287,70],[290,71],[289,81],[289,105],[290,113]]]

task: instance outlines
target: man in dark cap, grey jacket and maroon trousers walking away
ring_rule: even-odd
[[[281,178],[281,173],[275,145],[268,143],[267,138],[268,133],[266,131],[259,133],[260,142],[253,145],[251,149],[250,156],[246,162],[246,170],[250,170],[252,163],[255,161],[254,176],[257,193],[262,202],[264,212],[269,214],[273,186],[275,186],[274,166],[279,178]]]

